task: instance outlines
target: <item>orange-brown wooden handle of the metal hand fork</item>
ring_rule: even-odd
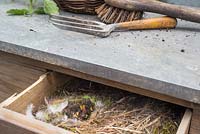
[[[175,28],[177,25],[177,20],[170,17],[160,17],[123,22],[114,25],[116,30],[163,29]]]

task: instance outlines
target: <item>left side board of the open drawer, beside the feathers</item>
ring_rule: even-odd
[[[51,95],[57,90],[57,86],[70,79],[71,77],[53,72],[44,74],[34,84],[13,97],[10,104],[7,103],[7,106],[4,107],[15,112],[25,113],[28,105],[34,104],[35,107],[41,105],[44,102],[44,97]]]

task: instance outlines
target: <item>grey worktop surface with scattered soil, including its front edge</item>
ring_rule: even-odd
[[[7,16],[0,3],[0,50],[200,104],[200,24],[115,32],[108,38],[60,30],[48,16]]]

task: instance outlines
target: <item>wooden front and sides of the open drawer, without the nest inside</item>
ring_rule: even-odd
[[[68,130],[47,124],[45,122],[29,118],[25,111],[29,104],[38,107],[44,103],[44,97],[50,96],[57,87],[67,81],[76,79],[71,76],[49,72],[42,75],[35,83],[26,88],[23,92],[13,95],[3,103],[0,108],[0,133],[6,134],[66,134],[72,133]],[[184,112],[177,134],[187,134],[189,130],[192,111],[187,109]]]

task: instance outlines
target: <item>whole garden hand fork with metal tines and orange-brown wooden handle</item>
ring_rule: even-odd
[[[100,37],[107,37],[112,31],[118,30],[169,29],[175,28],[177,25],[177,20],[170,17],[142,19],[106,25],[98,21],[82,20],[61,15],[50,15],[50,21],[60,29]]]

